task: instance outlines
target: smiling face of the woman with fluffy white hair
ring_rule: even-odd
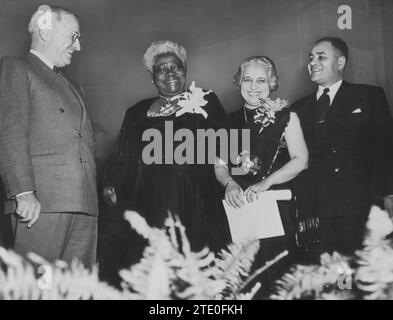
[[[153,83],[164,97],[181,93],[186,83],[186,69],[180,59],[170,53],[159,55],[153,66]]]

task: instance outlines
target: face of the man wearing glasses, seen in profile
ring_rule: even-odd
[[[59,68],[71,63],[75,51],[80,51],[79,23],[71,14],[63,13],[55,22],[48,39],[47,52],[53,64]]]

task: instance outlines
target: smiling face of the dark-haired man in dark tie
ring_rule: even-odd
[[[330,87],[342,79],[345,57],[340,56],[328,41],[316,44],[309,54],[308,71],[311,81]]]

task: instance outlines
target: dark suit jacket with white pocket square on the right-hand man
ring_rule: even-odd
[[[310,151],[296,179],[305,217],[366,215],[375,197],[393,194],[393,121],[380,87],[343,82],[326,116],[326,138],[315,138],[316,93],[297,101]]]

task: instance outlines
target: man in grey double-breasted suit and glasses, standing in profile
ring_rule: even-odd
[[[80,51],[77,17],[41,6],[23,58],[0,61],[0,174],[14,250],[50,262],[96,261],[94,142],[80,89],[59,70]]]

